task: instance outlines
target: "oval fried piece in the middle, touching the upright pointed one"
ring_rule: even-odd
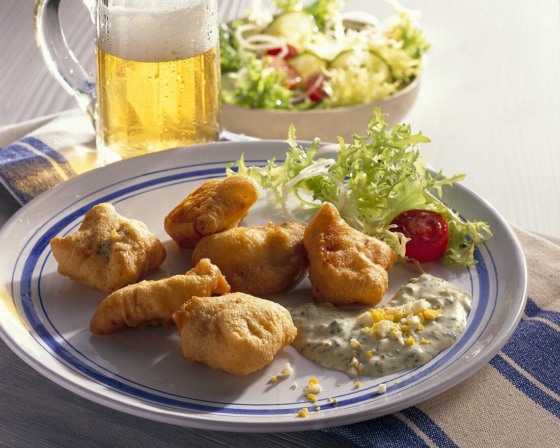
[[[290,286],[309,266],[300,223],[237,227],[200,239],[192,262],[210,258],[232,292],[272,294]]]

